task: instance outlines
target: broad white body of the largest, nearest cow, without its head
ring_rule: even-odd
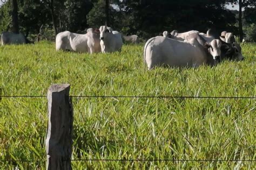
[[[147,45],[145,60],[149,69],[163,65],[197,67],[207,62],[199,45],[158,36]]]

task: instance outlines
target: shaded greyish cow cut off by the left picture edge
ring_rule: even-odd
[[[3,32],[1,34],[1,42],[2,45],[5,44],[25,44],[26,43],[26,38],[24,34],[19,33],[12,33],[12,32]]]

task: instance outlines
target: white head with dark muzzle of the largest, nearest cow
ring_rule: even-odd
[[[211,42],[205,42],[205,48],[208,49],[208,52],[211,54],[215,61],[220,62],[221,55],[221,41],[214,39]]]

